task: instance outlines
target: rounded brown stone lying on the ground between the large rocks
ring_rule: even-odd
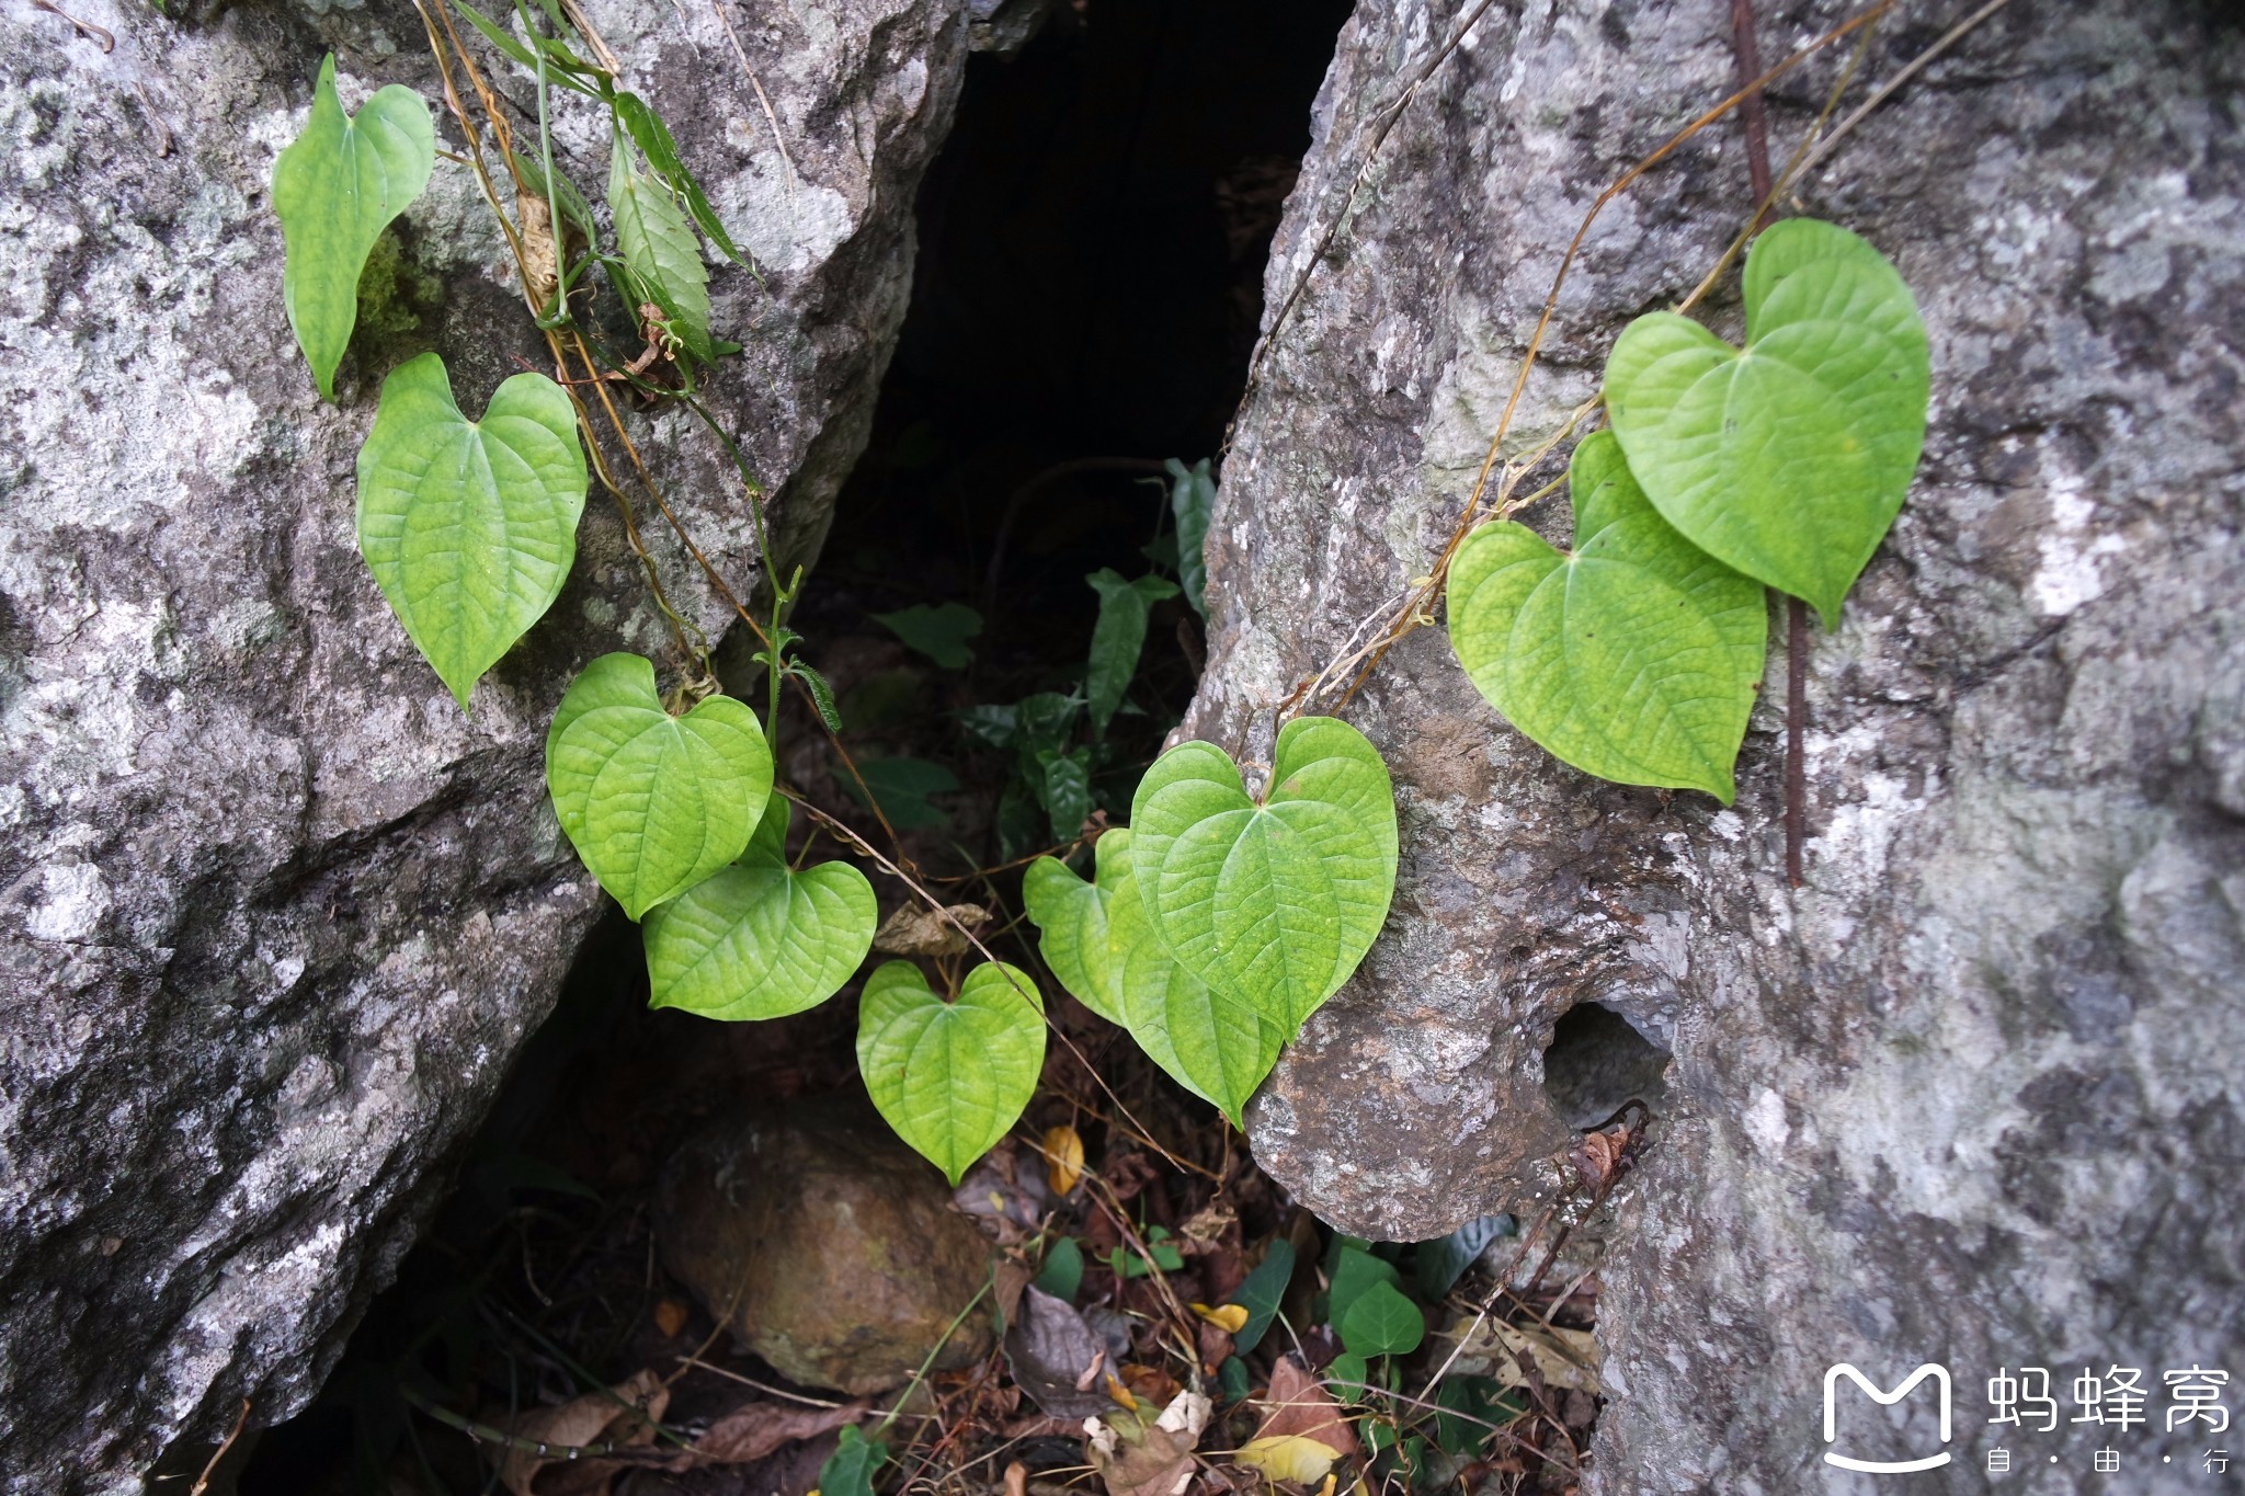
[[[990,1278],[990,1243],[943,1175],[858,1099],[750,1110],[689,1139],[656,1202],[662,1265],[806,1386],[902,1386]],[[988,1305],[936,1370],[990,1352]]]

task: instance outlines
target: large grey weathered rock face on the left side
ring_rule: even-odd
[[[775,491],[786,558],[808,558],[864,442],[974,18],[721,7],[586,9],[761,262],[761,285],[716,274],[716,325],[750,352],[714,404]],[[543,363],[451,161],[377,251],[337,406],[290,341],[274,155],[328,49],[350,108],[382,83],[440,99],[411,4],[67,9],[114,49],[25,2],[0,20],[11,1492],[137,1489],[242,1397],[272,1422],[317,1388],[597,913],[541,787],[561,686],[665,644],[597,489],[575,581],[474,718],[359,563],[352,462],[382,375],[436,348],[474,415],[516,359]],[[534,92],[503,87],[534,121]],[[563,112],[557,135],[577,182],[606,182],[595,121]],[[449,126],[440,144],[460,150]],[[745,588],[741,484],[691,417],[635,419]],[[671,597],[716,637],[725,615],[640,507]]]

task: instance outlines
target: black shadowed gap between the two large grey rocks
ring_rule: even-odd
[[[918,197],[911,307],[871,440],[792,619],[840,693],[851,751],[950,776],[929,796],[934,821],[902,830],[927,866],[1010,850],[1008,760],[961,731],[961,711],[1080,684],[1098,612],[1087,574],[1145,574],[1165,529],[1163,462],[1221,442],[1347,13],[1347,0],[1060,0],[1024,52],[968,65]],[[983,621],[959,671],[929,668],[873,621],[941,603]],[[1105,810],[1127,803],[1197,668],[1197,619],[1181,599],[1156,603],[1096,785]],[[808,713],[790,707],[784,727],[781,772],[849,810]],[[584,1310],[602,1328],[568,1350],[593,1377],[676,1357],[678,1335],[649,1323],[671,1294],[647,1227],[660,1160],[743,1097],[858,1086],[853,991],[757,1025],[649,1012],[640,931],[611,908],[326,1391],[245,1438],[211,1489],[487,1489],[489,1465],[429,1404],[478,1377],[492,1395],[487,1346],[548,1290],[570,1292],[552,1276],[604,1256],[620,1312]],[[525,1283],[532,1258],[543,1283]],[[709,1328],[696,1314],[685,1350]],[[182,1467],[189,1480],[204,1453]],[[775,1476],[770,1489],[801,1483]]]

